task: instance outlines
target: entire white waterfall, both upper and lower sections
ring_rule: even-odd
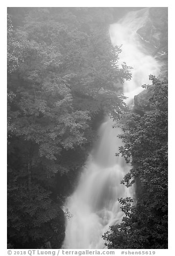
[[[124,84],[124,93],[133,98],[149,83],[149,74],[157,75],[159,65],[154,58],[141,51],[136,31],[143,26],[148,9],[128,12],[118,23],[110,26],[112,44],[123,45],[120,60],[132,66],[133,79]],[[120,197],[133,197],[133,190],[120,181],[129,171],[121,157],[115,157],[122,145],[116,136],[120,129],[112,128],[106,119],[99,129],[99,142],[94,146],[79,178],[78,187],[67,199],[72,218],[67,220],[63,248],[104,248],[101,236],[112,224],[121,222],[123,213],[117,201]]]

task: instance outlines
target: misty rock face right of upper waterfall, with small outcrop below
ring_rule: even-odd
[[[143,27],[137,30],[144,51],[155,57],[162,65],[159,79],[167,76],[167,8],[150,8],[147,22]],[[149,110],[147,91],[134,97],[133,111],[142,115],[144,111]]]

